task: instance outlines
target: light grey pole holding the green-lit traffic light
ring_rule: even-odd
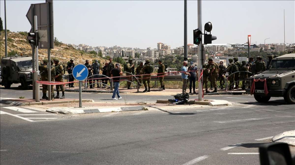
[[[202,31],[202,1],[198,0],[198,28],[200,31]],[[202,38],[202,34],[200,34],[200,38]],[[201,74],[201,70],[203,68],[203,55],[202,55],[202,41],[198,45],[198,56],[199,56],[199,73]],[[203,82],[203,79],[201,80]],[[202,83],[198,83],[198,95],[199,95],[199,100],[203,100],[203,87]]]

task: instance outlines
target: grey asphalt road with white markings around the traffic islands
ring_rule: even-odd
[[[1,88],[1,97],[30,97]],[[14,94],[13,94],[14,93]],[[17,95],[15,95],[17,93]],[[77,93],[68,93],[77,97]],[[83,93],[109,99],[111,94]],[[128,95],[129,101],[172,96]],[[197,98],[197,95],[194,96]],[[191,98],[194,98],[191,97]],[[282,98],[258,103],[250,95],[205,96],[227,107],[83,115],[29,113],[1,105],[1,164],[260,164],[258,146],[294,129],[294,105]],[[10,108],[10,109],[9,109]],[[38,117],[30,117],[38,116]],[[33,122],[19,118],[30,119]],[[39,117],[42,116],[42,117]],[[53,119],[55,118],[55,119]],[[294,148],[291,148],[294,151]],[[294,153],[294,152],[293,152]]]

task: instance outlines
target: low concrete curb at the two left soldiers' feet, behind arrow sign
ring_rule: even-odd
[[[51,102],[15,102],[11,100],[0,100],[1,104],[9,104],[13,106],[27,106],[27,105],[52,105],[52,104],[65,104],[79,102],[79,100],[66,100],[66,101],[51,101]],[[92,99],[82,99],[82,102],[94,102]]]

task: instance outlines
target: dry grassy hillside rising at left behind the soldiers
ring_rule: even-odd
[[[11,51],[16,51],[18,54],[22,53],[23,55],[32,56],[32,48],[27,41],[27,33],[25,32],[7,32],[7,53]],[[76,50],[72,46],[68,46],[61,42],[55,42],[54,49],[51,49],[51,58],[54,57],[59,58],[62,62],[67,62],[71,58],[74,60],[76,64],[84,64],[85,60],[97,59],[100,60],[101,63],[108,62],[100,57],[95,57],[96,55],[88,54],[80,50]],[[1,31],[0,34],[0,56],[5,56],[5,33]],[[47,58],[47,49],[39,49],[39,60]]]

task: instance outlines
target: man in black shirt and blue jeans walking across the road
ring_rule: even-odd
[[[122,72],[122,69],[120,68],[120,64],[117,63],[115,65],[115,68],[111,70],[111,77],[118,77],[118,78],[113,78],[114,92],[113,92],[112,100],[122,99],[119,93],[120,75],[123,75],[123,72]],[[118,99],[116,98],[116,94],[118,96]]]

